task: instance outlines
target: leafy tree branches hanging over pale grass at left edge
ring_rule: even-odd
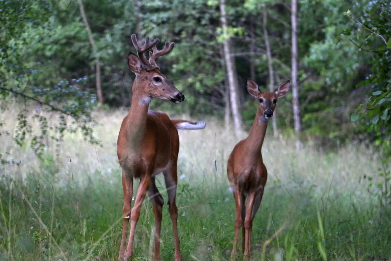
[[[81,131],[86,140],[100,144],[93,136],[90,123],[93,121],[90,111],[95,97],[81,89],[87,77],[68,81],[41,70],[50,60],[32,59],[31,44],[42,41],[37,35],[45,36],[53,32],[51,20],[52,3],[50,1],[2,2],[2,30],[0,32],[0,95],[2,99],[16,99],[21,104],[17,126],[13,139],[22,146],[27,137],[30,146],[38,156],[45,148],[45,138],[52,130],[52,138],[61,141],[66,132]],[[4,19],[3,19],[4,18]],[[44,79],[44,80],[43,80]],[[36,110],[27,110],[30,104]],[[58,112],[58,123],[49,126],[41,112]],[[33,130],[29,117],[39,121],[40,129]],[[0,122],[0,126],[7,122]],[[11,135],[11,133],[1,133]],[[2,158],[2,163],[7,160]]]

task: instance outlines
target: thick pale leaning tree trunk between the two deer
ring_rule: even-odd
[[[240,102],[239,102],[239,83],[236,73],[235,57],[232,55],[231,39],[227,37],[227,19],[225,11],[225,0],[220,1],[221,11],[221,27],[225,37],[224,46],[224,57],[227,67],[228,84],[230,86],[230,98],[231,98],[231,109],[233,121],[235,124],[235,133],[238,135],[242,131],[242,116],[240,115]]]

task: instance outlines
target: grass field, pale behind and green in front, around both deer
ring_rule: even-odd
[[[20,162],[0,166],[0,260],[117,260],[123,194],[116,141],[126,113],[95,114],[103,147],[84,142],[79,133],[67,134],[62,143],[49,141],[42,160],[28,146],[0,136],[3,157]],[[15,115],[13,110],[0,115],[11,133],[9,119]],[[226,162],[239,140],[216,119],[206,122],[204,130],[179,133],[178,229],[188,261],[228,260],[232,247],[234,202]],[[391,212],[380,209],[376,186],[368,189],[364,178],[373,176],[377,183],[378,154],[360,144],[324,151],[309,143],[298,152],[294,144],[289,135],[265,139],[269,179],[254,221],[253,260],[390,259]],[[158,180],[167,202],[161,175]],[[134,260],[149,260],[153,225],[145,200]],[[173,256],[165,205],[161,257]]]

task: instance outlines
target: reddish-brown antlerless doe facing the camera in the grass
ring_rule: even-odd
[[[277,99],[289,91],[290,81],[280,84],[274,92],[261,92],[258,85],[248,79],[247,90],[258,100],[258,110],[246,139],[235,145],[228,158],[227,176],[235,199],[235,235],[231,260],[236,258],[239,230],[242,227],[244,259],[251,257],[251,229],[261,204],[267,180],[267,169],[262,160],[267,122],[273,116]]]

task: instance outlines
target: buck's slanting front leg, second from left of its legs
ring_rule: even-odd
[[[127,243],[127,248],[126,248],[126,256],[125,256],[126,260],[129,257],[133,256],[133,241],[135,239],[136,224],[138,218],[140,218],[141,205],[144,201],[145,195],[147,194],[147,190],[150,183],[151,183],[151,175],[148,173],[147,175],[144,175],[141,178],[140,184],[138,185],[135,205],[133,206],[133,209],[130,212],[131,225],[130,225],[129,241]]]

